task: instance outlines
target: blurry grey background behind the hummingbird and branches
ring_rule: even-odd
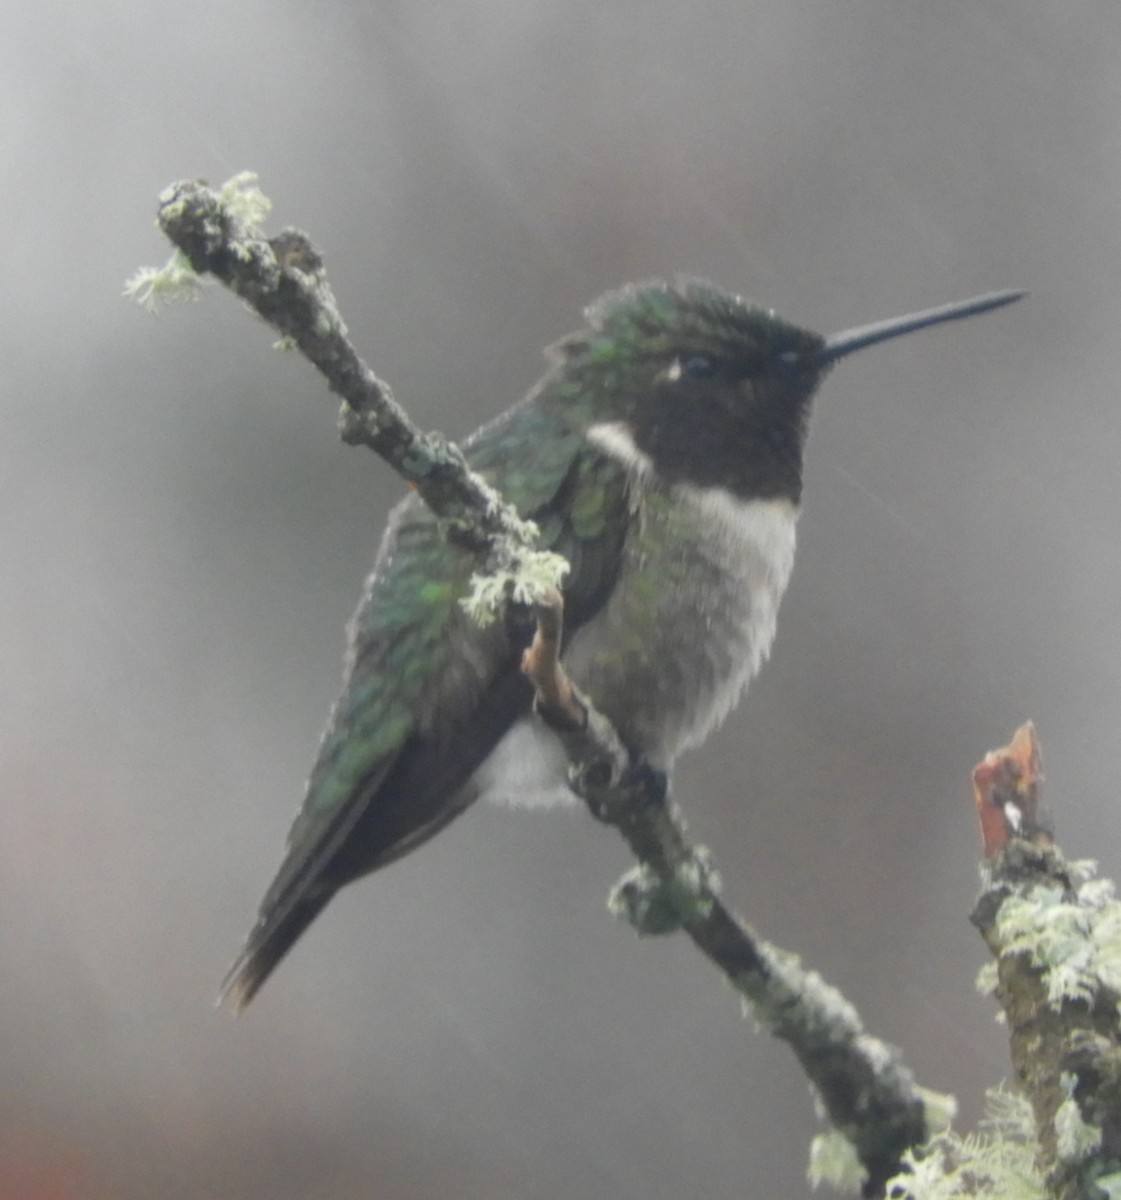
[[[158,191],[260,173],[462,436],[581,306],[708,276],[829,331],[1029,301],[827,382],[774,656],[678,794],[736,907],[965,1123],[1006,1073],[969,772],[1038,722],[1121,871],[1121,12],[898,0],[8,0],[0,18],[0,1196],[804,1195],[780,1045],[604,911],[622,842],[478,809],[211,1009],[400,494]]]

